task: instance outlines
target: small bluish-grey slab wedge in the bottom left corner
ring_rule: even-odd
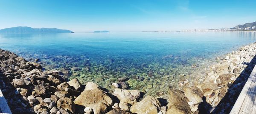
[[[3,97],[3,93],[0,89],[0,114],[12,114],[6,99]]]

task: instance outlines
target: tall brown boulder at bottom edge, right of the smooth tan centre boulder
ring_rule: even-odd
[[[185,95],[183,94],[182,91],[169,91],[168,101],[169,103],[167,104],[166,114],[192,114],[192,112],[190,111],[189,104],[187,103]]]

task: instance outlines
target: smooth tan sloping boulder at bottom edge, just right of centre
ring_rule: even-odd
[[[158,111],[160,111],[159,101],[157,98],[149,95],[131,106],[131,112],[137,114],[157,114]]]

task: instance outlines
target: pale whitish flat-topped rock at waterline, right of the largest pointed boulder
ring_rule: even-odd
[[[113,95],[116,96],[119,100],[121,100],[122,98],[129,98],[131,100],[136,100],[137,98],[140,97],[140,91],[115,88]]]

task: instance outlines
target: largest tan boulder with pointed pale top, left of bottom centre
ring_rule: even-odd
[[[74,102],[77,105],[92,108],[94,114],[104,114],[111,108],[111,105],[113,105],[111,98],[93,82],[87,83],[84,91]]]

